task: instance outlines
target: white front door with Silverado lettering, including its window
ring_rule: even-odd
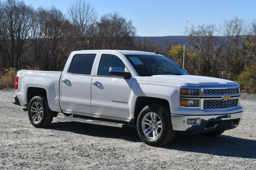
[[[92,78],[91,112],[97,116],[129,119],[128,102],[132,77],[123,79],[110,76],[110,67],[126,68],[121,56],[102,54],[97,75]]]

